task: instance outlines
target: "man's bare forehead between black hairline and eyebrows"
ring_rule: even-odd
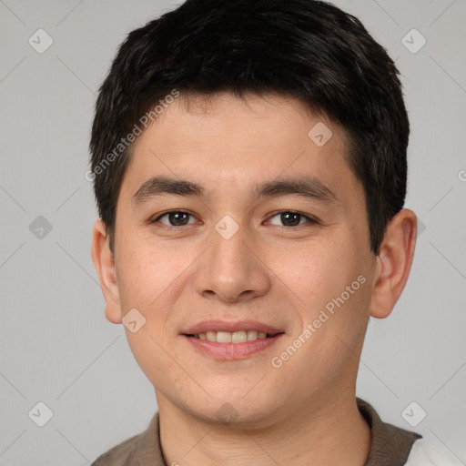
[[[138,137],[124,185],[132,196],[163,175],[231,196],[258,181],[309,175],[345,199],[361,194],[348,147],[342,127],[290,96],[179,96]]]

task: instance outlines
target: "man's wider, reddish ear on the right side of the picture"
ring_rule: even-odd
[[[370,316],[390,316],[400,298],[408,277],[416,246],[418,219],[409,208],[403,208],[391,219],[377,256]]]

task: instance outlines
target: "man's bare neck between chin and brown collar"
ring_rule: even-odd
[[[316,397],[286,415],[274,413],[274,420],[255,429],[210,423],[160,394],[157,401],[167,465],[362,466],[370,450],[370,428],[351,390]]]

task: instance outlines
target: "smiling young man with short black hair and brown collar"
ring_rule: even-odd
[[[94,465],[425,456],[355,394],[416,241],[397,74],[317,1],[188,0],[128,35],[96,103],[92,257],[158,411]]]

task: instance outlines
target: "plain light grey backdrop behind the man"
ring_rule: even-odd
[[[360,17],[403,75],[406,207],[424,226],[393,314],[370,322],[358,395],[466,463],[466,1],[335,4]],[[117,46],[174,5],[0,0],[0,465],[86,465],[157,410],[123,327],[104,316],[84,174],[96,91]],[[42,54],[28,43],[39,28],[53,39]],[[427,40],[417,53],[402,43],[412,28]],[[419,35],[404,40],[420,46]],[[44,419],[39,401],[53,411],[44,427],[32,420]],[[427,412],[415,428],[401,415],[412,401],[411,422]]]

